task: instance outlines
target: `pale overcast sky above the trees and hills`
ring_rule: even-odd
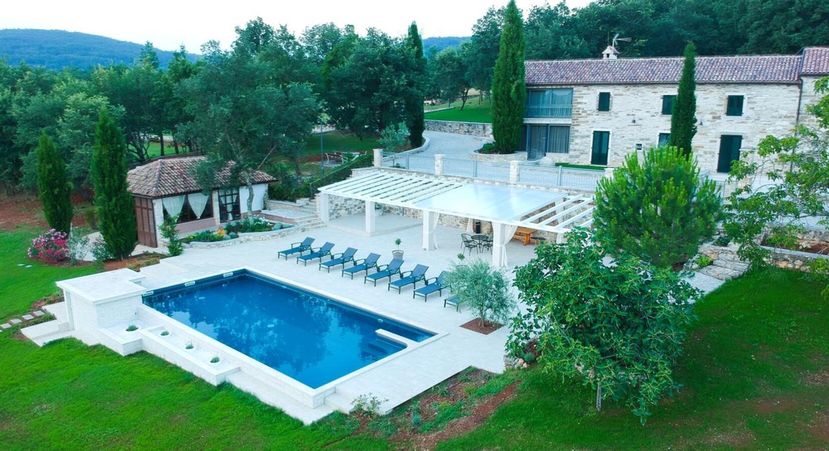
[[[380,28],[390,35],[406,32],[416,21],[424,37],[468,36],[473,23],[493,4],[506,0],[27,0],[0,7],[0,28],[43,28],[85,32],[122,41],[152,41],[162,50],[184,44],[198,52],[211,39],[225,48],[234,27],[257,16],[271,25],[286,24],[295,34],[316,23],[353,24],[357,32]],[[526,13],[545,0],[516,0]],[[555,4],[558,0],[551,0]],[[567,0],[580,7],[589,0]]]

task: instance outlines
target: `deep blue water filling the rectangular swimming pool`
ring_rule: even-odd
[[[157,289],[144,303],[312,388],[405,347],[377,329],[434,335],[246,270]]]

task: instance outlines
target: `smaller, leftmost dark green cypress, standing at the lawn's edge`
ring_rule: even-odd
[[[66,165],[55,143],[46,133],[35,149],[37,155],[37,189],[41,192],[43,215],[55,230],[69,233],[72,222],[72,184],[66,177]]]

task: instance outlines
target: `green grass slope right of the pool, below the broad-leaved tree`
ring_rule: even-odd
[[[516,400],[439,449],[826,447],[829,303],[821,289],[802,274],[764,271],[702,299],[676,373],[685,388],[645,426],[612,402],[598,414],[594,390],[534,370]]]

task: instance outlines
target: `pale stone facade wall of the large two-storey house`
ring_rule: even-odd
[[[545,86],[533,86],[542,88]],[[567,86],[556,86],[567,87]],[[657,145],[659,133],[670,133],[671,115],[662,114],[662,95],[676,95],[677,85],[576,85],[573,88],[572,119],[525,119],[526,124],[570,124],[570,153],[557,160],[589,164],[596,130],[610,132],[608,165]],[[812,88],[813,89],[813,88]],[[610,111],[597,111],[599,92],[610,92]],[[729,95],[744,95],[744,114],[726,116]],[[772,134],[789,133],[797,120],[800,90],[797,85],[701,84],[696,86],[698,131],[694,153],[700,168],[715,172],[720,136],[743,136],[742,147],[755,148]]]

